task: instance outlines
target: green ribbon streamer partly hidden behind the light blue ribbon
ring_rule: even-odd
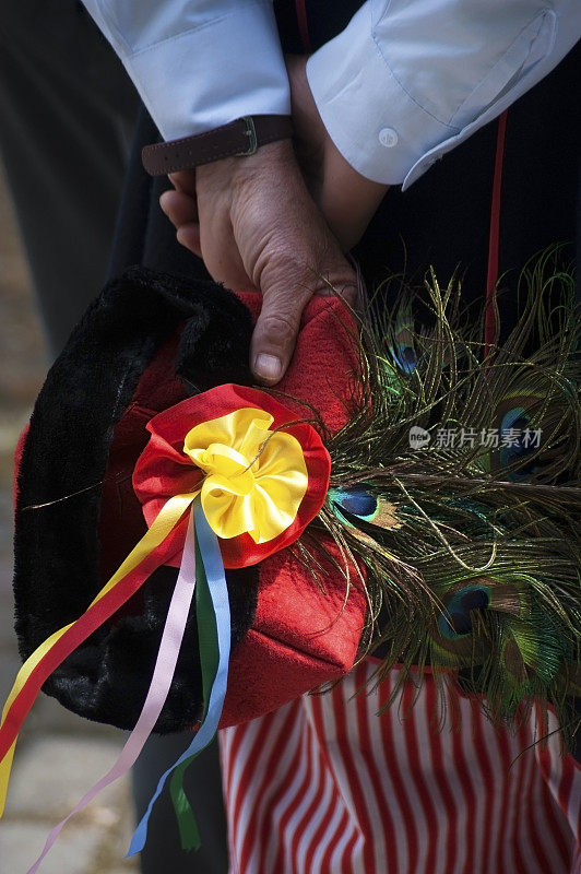
[[[208,713],[210,693],[214,685],[220,653],[216,617],[198,540],[195,541],[195,614],[203,697],[203,712],[200,721],[203,722]],[[178,822],[182,850],[198,850],[201,846],[195,816],[183,790],[183,776],[198,755],[195,753],[182,761],[171,775],[169,782],[169,792]]]

